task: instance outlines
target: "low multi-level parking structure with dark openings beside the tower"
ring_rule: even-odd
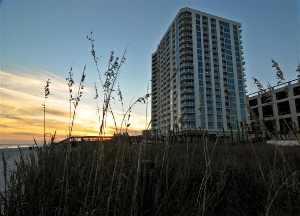
[[[298,79],[274,86],[269,91],[272,100],[261,92],[247,95],[252,110],[251,128],[254,122],[265,125],[269,132],[299,131],[300,128],[300,85]]]

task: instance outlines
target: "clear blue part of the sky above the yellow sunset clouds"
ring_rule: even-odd
[[[132,97],[146,93],[151,54],[182,7],[242,23],[248,93],[256,91],[252,76],[264,85],[267,81],[276,84],[271,58],[279,63],[286,80],[296,77],[299,1],[4,0],[0,3],[1,70],[21,75],[35,71],[35,76],[39,76],[36,71],[48,71],[65,78],[74,62],[79,79],[87,61],[86,85],[92,88],[97,76],[86,35],[93,28],[101,69],[107,67],[111,50],[121,55],[129,44],[119,81],[128,104]],[[94,103],[92,97],[85,100]],[[145,115],[146,109],[138,106],[135,112]]]

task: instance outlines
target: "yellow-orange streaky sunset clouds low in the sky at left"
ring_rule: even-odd
[[[43,99],[46,80],[49,78],[52,95],[46,101],[46,133],[57,129],[57,140],[66,137],[69,126],[68,89],[64,77],[49,71],[29,69],[0,71],[0,144],[30,143],[32,137],[43,140]],[[76,84],[74,85],[76,89]],[[98,135],[99,122],[93,88],[85,86],[83,101],[79,105],[73,135]],[[121,125],[123,112],[114,110],[117,125]],[[131,115],[129,132],[135,134],[145,126],[145,116]],[[107,118],[107,134],[115,127],[111,116]]]

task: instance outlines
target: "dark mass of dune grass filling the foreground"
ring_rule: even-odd
[[[0,195],[1,211],[4,215],[300,214],[297,146],[254,144],[252,149],[245,144],[207,143],[203,148],[198,143],[150,145],[145,152],[143,144],[118,143],[107,141],[102,151],[90,144],[71,149],[69,175],[64,179],[68,187],[62,194],[66,148],[45,147],[28,160],[21,155],[7,179],[6,197]],[[99,166],[94,158],[100,158]],[[137,176],[142,159],[155,162],[147,209],[133,199],[143,197]],[[95,175],[96,181],[91,181]]]

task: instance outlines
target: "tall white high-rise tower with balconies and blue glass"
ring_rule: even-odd
[[[191,8],[152,54],[152,130],[236,130],[249,123],[241,23]]]

